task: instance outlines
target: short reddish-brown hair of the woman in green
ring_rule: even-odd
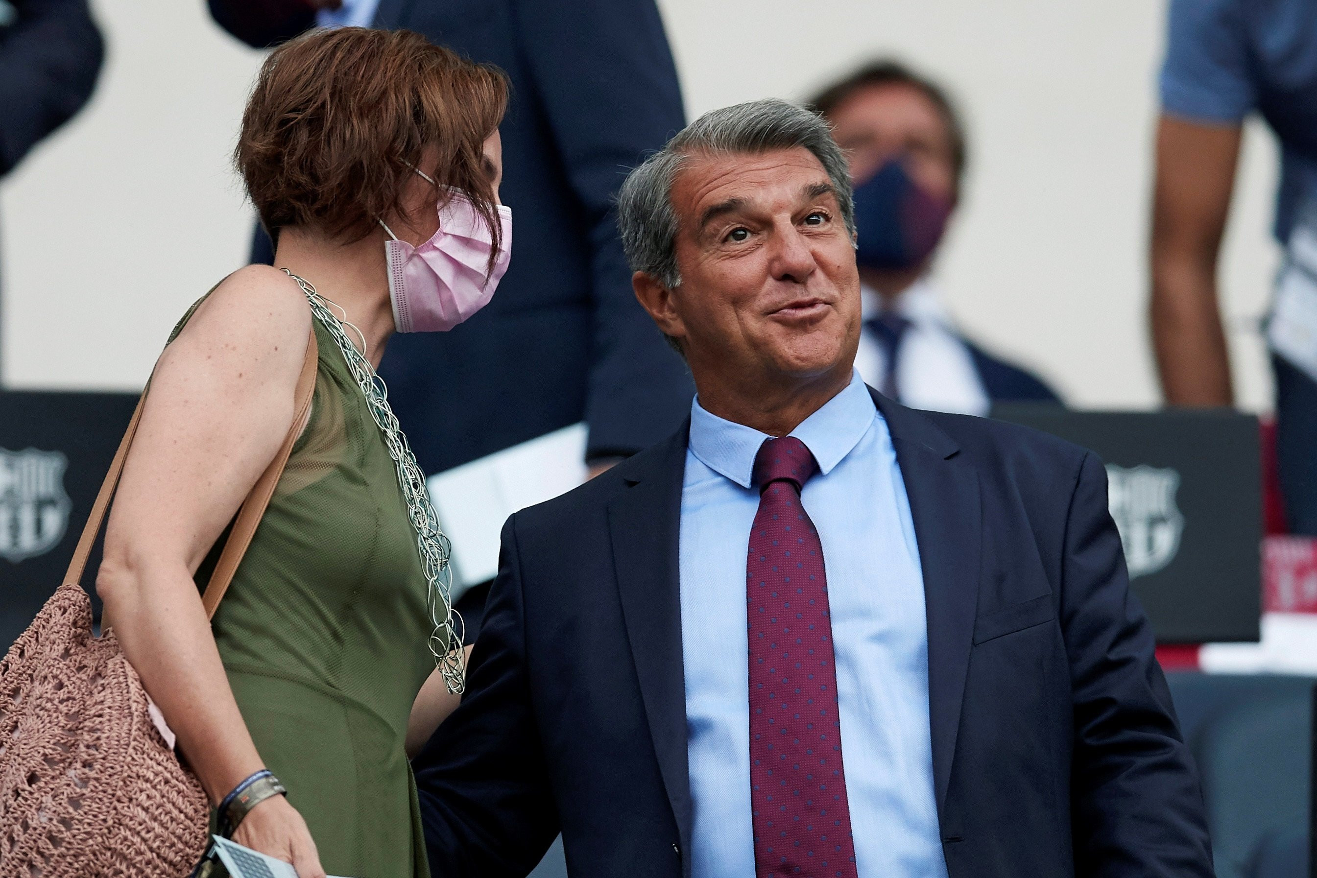
[[[435,182],[469,194],[497,244],[482,147],[507,92],[497,67],[417,33],[312,30],[266,58],[233,161],[271,236],[304,226],[361,238],[402,209],[423,150],[435,147]]]

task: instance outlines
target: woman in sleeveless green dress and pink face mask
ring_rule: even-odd
[[[270,55],[236,162],[278,269],[228,276],[175,329],[111,515],[96,587],[124,653],[219,824],[299,878],[428,874],[407,749],[456,706],[461,653],[446,542],[374,367],[507,266],[506,101],[500,72],[406,32]],[[294,426],[311,333],[311,415],[208,623],[199,586]]]

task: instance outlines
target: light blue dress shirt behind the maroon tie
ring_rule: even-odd
[[[753,878],[745,555],[759,430],[691,404],[681,492],[681,640],[693,878]],[[923,575],[892,436],[851,383],[792,436],[818,461],[802,502],[823,544],[842,762],[860,878],[946,878],[932,787]]]

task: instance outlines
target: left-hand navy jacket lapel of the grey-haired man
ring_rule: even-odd
[[[608,504],[614,571],[668,800],[690,849],[686,679],[681,657],[678,536],[689,423],[619,465],[631,486]],[[689,864],[686,856],[682,861]]]

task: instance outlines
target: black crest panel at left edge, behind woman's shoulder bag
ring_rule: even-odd
[[[137,394],[0,391],[0,649],[59,587],[134,405]]]

